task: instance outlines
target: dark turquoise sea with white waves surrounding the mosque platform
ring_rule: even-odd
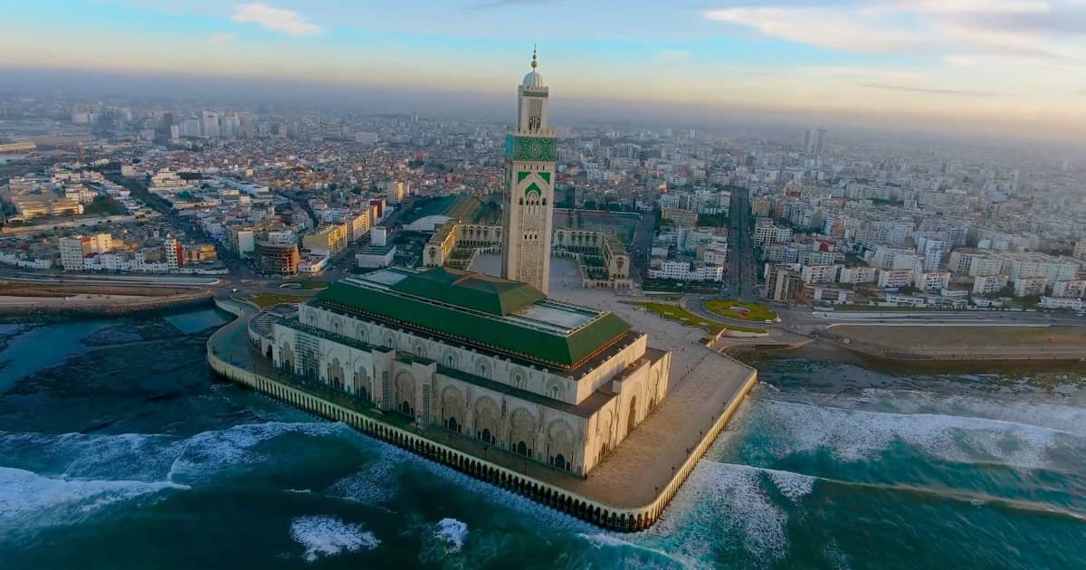
[[[9,339],[36,364],[0,369],[3,568],[1086,567],[1078,371],[759,363],[659,523],[617,534],[218,382],[202,318]]]

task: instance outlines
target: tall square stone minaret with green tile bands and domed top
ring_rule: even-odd
[[[532,71],[517,88],[517,126],[505,136],[502,277],[546,294],[557,148],[546,121],[550,89],[536,65],[532,50]]]

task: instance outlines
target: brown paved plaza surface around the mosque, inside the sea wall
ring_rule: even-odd
[[[558,267],[560,274],[563,267]],[[691,452],[733,400],[741,398],[755,377],[754,369],[696,343],[699,329],[682,327],[655,315],[626,305],[606,290],[567,290],[558,286],[560,275],[552,276],[553,296],[609,308],[631,325],[648,332],[672,354],[672,382],[668,397],[657,406],[621,445],[618,445],[588,478],[582,479],[482,442],[440,430],[413,428],[437,443],[462,449],[480,459],[520,472],[535,480],[566,489],[584,498],[618,508],[637,508],[652,503],[671,482]],[[248,317],[255,309],[245,307],[245,318],[219,330],[210,347],[224,360],[282,383],[293,384],[272,364],[250,347]]]

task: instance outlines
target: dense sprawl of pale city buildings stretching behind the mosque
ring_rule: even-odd
[[[725,220],[731,193],[742,190],[769,300],[1082,307],[1086,202],[1083,166],[1071,159],[909,152],[900,141],[859,145],[823,127],[797,129],[794,141],[552,129],[546,89],[532,91],[533,81],[520,88],[508,136],[500,124],[418,114],[7,99],[0,114],[18,121],[2,134],[12,175],[0,188],[0,263],[223,274],[248,259],[258,273],[293,276],[359,253],[367,265],[467,267],[479,252],[530,250],[543,275],[550,256],[541,252],[591,248],[585,283],[629,287],[634,275],[649,286],[723,286]],[[502,148],[513,163],[495,156]],[[554,159],[553,173],[514,164],[536,150]],[[526,195],[553,201],[558,214],[539,227],[529,203],[523,221],[496,215],[521,210],[519,198],[501,203],[506,185],[540,189]],[[453,195],[472,201],[441,201]],[[383,223],[393,212],[407,223]],[[629,228],[644,217],[655,218],[653,237],[633,243]],[[85,246],[80,265],[72,240],[103,230],[113,243]],[[408,248],[416,231],[431,236]],[[792,274],[801,287],[768,287],[770,276]]]

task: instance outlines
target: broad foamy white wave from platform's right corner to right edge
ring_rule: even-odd
[[[1073,433],[1013,421],[943,414],[894,414],[813,404],[754,402],[744,431],[772,434],[768,452],[784,457],[826,449],[843,461],[860,461],[905,442],[956,463],[999,463],[1037,469],[1062,444],[1081,446]],[[710,456],[721,456],[719,446]]]

